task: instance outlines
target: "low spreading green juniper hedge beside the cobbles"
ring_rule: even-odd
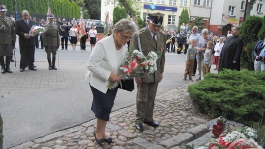
[[[195,108],[212,118],[223,116],[243,124],[265,115],[265,73],[225,70],[209,74],[188,93]]]

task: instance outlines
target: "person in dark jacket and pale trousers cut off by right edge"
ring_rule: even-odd
[[[265,37],[258,41],[254,47],[254,58],[255,72],[265,71]]]

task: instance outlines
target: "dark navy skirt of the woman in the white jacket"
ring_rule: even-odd
[[[95,113],[96,118],[109,121],[109,115],[114,105],[118,87],[111,90],[108,89],[106,94],[91,85],[90,88],[93,94],[91,110]]]

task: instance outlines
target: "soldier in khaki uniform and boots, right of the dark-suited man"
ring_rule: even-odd
[[[48,15],[49,24],[44,25],[44,31],[42,33],[43,45],[47,53],[47,59],[49,63],[49,70],[57,70],[55,67],[56,51],[60,46],[60,35],[58,26],[53,23],[53,14]],[[51,61],[51,53],[53,53],[53,66]]]

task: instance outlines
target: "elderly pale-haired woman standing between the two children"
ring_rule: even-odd
[[[197,65],[198,65],[198,79],[196,81],[201,80],[201,75],[205,75],[205,67],[204,67],[204,52],[207,49],[208,42],[208,29],[204,28],[202,30],[202,36],[199,39],[199,42],[196,45],[197,48]]]

